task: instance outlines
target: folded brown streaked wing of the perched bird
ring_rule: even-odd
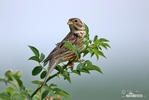
[[[59,44],[57,47],[53,49],[53,51],[48,55],[48,57],[44,60],[47,62],[51,60],[53,57],[63,56],[66,52],[71,53],[72,51],[65,47],[64,41],[68,41],[72,44],[76,44],[78,36],[75,33],[69,33]],[[73,52],[72,52],[73,53]]]

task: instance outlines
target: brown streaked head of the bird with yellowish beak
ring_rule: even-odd
[[[79,18],[70,18],[67,24],[72,32],[85,31],[84,23]]]

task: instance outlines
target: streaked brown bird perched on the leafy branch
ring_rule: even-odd
[[[67,24],[69,25],[70,32],[43,61],[44,63],[49,61],[49,66],[42,86],[46,84],[48,75],[53,71],[56,65],[77,58],[72,50],[65,47],[65,41],[75,45],[79,52],[83,51],[86,47],[82,44],[82,42],[86,40],[84,37],[86,35],[85,24],[79,18],[70,18]]]

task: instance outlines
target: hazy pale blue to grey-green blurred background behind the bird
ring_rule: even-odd
[[[35,89],[31,80],[39,76],[31,75],[37,64],[28,61],[33,55],[28,45],[47,56],[69,32],[72,17],[88,25],[91,39],[107,38],[112,48],[104,51],[107,59],[91,59],[104,74],[73,74],[71,84],[62,78],[52,82],[69,91],[71,100],[126,100],[122,90],[137,90],[141,100],[149,100],[148,0],[0,0],[0,77],[8,69],[21,70],[25,85]],[[0,83],[0,91],[4,86]]]

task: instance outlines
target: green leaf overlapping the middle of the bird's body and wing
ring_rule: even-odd
[[[81,55],[80,55],[79,51],[77,50],[76,46],[72,45],[68,41],[64,41],[64,43],[65,43],[65,47],[67,47],[68,49],[72,50],[77,55],[78,58],[81,57]]]

